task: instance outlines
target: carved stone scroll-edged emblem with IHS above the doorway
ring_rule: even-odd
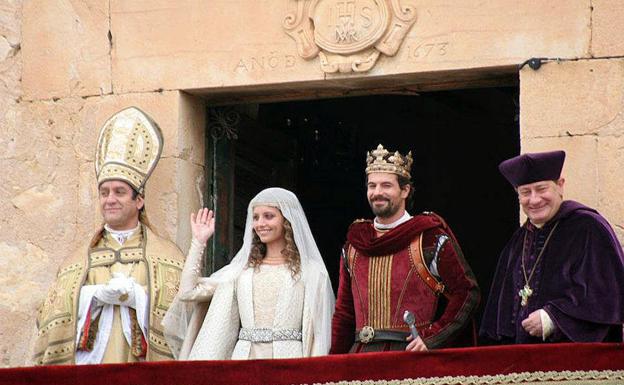
[[[284,29],[299,55],[325,72],[365,72],[394,56],[416,21],[402,0],[289,0]]]

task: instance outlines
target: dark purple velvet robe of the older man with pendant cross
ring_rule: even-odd
[[[546,238],[558,223],[535,266]],[[522,251],[533,295],[520,305],[524,287]],[[613,229],[598,212],[564,201],[541,229],[526,222],[503,249],[481,322],[480,335],[501,343],[539,343],[521,325],[544,309],[557,330],[547,342],[622,339],[624,254]]]

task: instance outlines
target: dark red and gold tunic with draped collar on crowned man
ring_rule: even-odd
[[[448,241],[439,242],[440,237]],[[448,347],[472,326],[479,288],[441,217],[417,215],[385,232],[375,230],[371,221],[356,221],[343,255],[330,353],[404,349],[406,343],[384,342],[384,335],[409,334],[405,310],[414,313],[429,349]],[[428,268],[434,258],[439,278]],[[363,328],[378,336],[368,347],[356,342]]]

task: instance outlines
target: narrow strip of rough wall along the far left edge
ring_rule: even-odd
[[[45,252],[13,231],[17,209],[11,203],[16,196],[12,180],[18,178],[20,169],[15,173],[8,171],[19,163],[26,163],[26,158],[34,158],[16,143],[18,100],[22,93],[21,7],[21,0],[0,4],[0,285],[3,286],[0,294],[0,366],[24,363],[29,346],[16,336],[32,334],[32,313],[23,309],[23,304],[29,301],[33,292],[45,290],[45,283],[35,274],[37,269],[31,267],[45,260]],[[10,177],[8,174],[15,175]],[[20,330],[20,325],[24,324],[30,324],[30,328]]]

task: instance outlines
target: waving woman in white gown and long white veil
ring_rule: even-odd
[[[243,246],[199,277],[214,233],[211,211],[191,215],[193,240],[163,324],[178,359],[295,358],[327,354],[334,294],[299,200],[269,188],[247,210]],[[206,313],[206,306],[208,306]]]

